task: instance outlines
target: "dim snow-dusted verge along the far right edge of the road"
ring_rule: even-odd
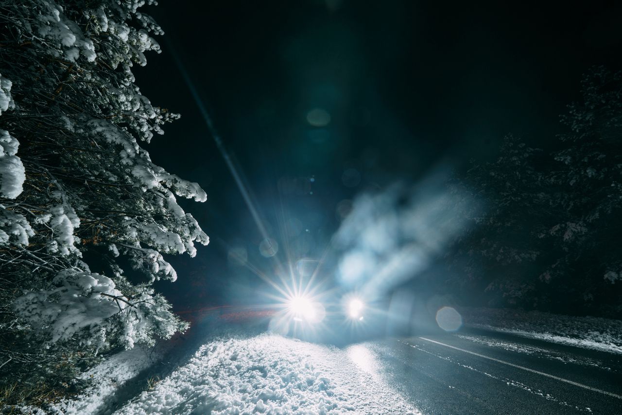
[[[506,308],[459,308],[466,327],[622,354],[622,320]]]

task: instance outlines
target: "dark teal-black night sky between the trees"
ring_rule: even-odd
[[[591,65],[621,68],[622,6],[542,3],[162,0],[148,12],[271,237],[317,257],[347,207],[340,201],[364,189],[490,160],[507,133],[554,148],[581,75]],[[193,260],[173,259],[180,279],[161,288],[179,309],[228,302],[256,279],[232,264],[231,249],[259,269],[271,265],[170,46],[158,41],[163,52],[135,70],[137,84],[182,118],[148,148],[205,188],[207,203],[184,206],[212,240]],[[310,125],[314,108],[330,123]]]

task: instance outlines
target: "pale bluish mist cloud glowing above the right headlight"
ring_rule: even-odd
[[[448,188],[448,174],[439,168],[415,185],[395,183],[355,199],[333,238],[341,285],[376,298],[429,269],[467,226],[460,212],[474,205]]]

